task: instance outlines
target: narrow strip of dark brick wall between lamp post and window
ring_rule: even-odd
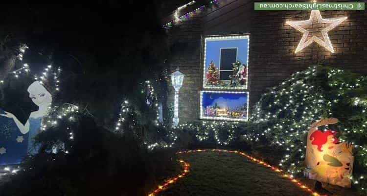
[[[180,123],[192,119],[199,119],[202,26],[201,16],[197,16],[180,25],[179,29],[168,31],[171,36],[172,49],[169,72],[173,73],[178,67],[180,72],[185,74],[184,84],[179,94]],[[175,90],[172,86],[169,89],[168,102],[173,105]]]

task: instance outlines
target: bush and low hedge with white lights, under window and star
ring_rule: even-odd
[[[270,160],[278,162],[290,176],[301,176],[310,125],[321,118],[333,117],[339,123],[319,128],[338,131],[340,142],[353,144],[351,178],[354,186],[365,192],[366,92],[365,76],[325,66],[310,67],[264,94],[247,123],[180,124],[173,132],[179,135],[176,147],[252,147],[265,157],[271,156]]]

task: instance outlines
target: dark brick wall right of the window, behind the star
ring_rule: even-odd
[[[258,101],[267,87],[275,86],[292,73],[313,64],[329,65],[367,74],[366,11],[321,11],[323,18],[348,17],[329,31],[334,53],[316,43],[294,53],[302,33],[285,24],[308,20],[311,11],[253,11],[250,41],[251,98]],[[307,26],[318,31],[323,25]]]

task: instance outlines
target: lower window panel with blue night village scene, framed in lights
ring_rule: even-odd
[[[248,105],[248,92],[201,91],[200,119],[248,121]]]

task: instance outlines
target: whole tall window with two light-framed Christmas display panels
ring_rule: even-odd
[[[249,35],[206,36],[200,119],[248,120]]]

